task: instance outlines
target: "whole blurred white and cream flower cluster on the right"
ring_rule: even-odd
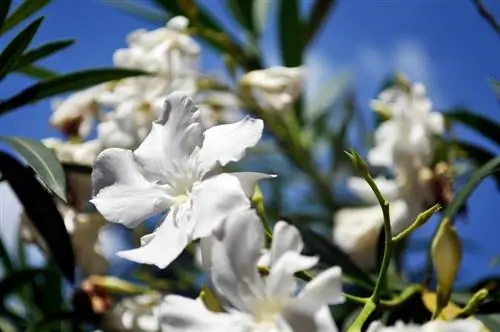
[[[431,163],[433,140],[444,132],[444,119],[432,110],[421,83],[387,88],[371,106],[388,118],[375,131],[375,145],[367,161],[392,173],[390,178],[380,176],[375,181],[390,202],[392,232],[396,235],[420,212],[439,202]],[[359,266],[370,269],[375,264],[375,248],[383,228],[382,211],[364,179],[351,177],[346,183],[369,205],[339,210],[334,215],[333,238]]]

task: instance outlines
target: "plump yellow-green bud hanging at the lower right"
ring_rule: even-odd
[[[446,218],[432,241],[432,262],[437,276],[437,313],[448,303],[453,283],[462,260],[462,247],[458,234]]]

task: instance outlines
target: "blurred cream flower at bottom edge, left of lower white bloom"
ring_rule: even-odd
[[[159,293],[125,298],[104,314],[100,327],[104,331],[160,331],[158,312],[161,299]]]

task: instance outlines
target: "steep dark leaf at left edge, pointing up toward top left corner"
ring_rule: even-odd
[[[26,29],[21,31],[7,47],[5,47],[2,54],[0,54],[0,80],[14,69],[16,62],[31,43],[42,21],[43,17],[28,25]]]

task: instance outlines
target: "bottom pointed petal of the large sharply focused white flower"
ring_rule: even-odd
[[[118,256],[141,264],[166,268],[186,248],[190,239],[183,225],[173,222],[172,213],[155,230],[154,236],[143,241],[143,246],[133,250],[120,251]]]

